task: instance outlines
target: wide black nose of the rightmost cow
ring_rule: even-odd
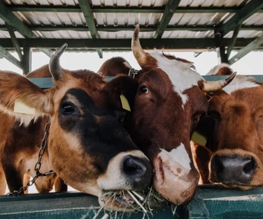
[[[237,155],[215,155],[212,167],[217,174],[217,180],[224,184],[248,185],[257,168],[253,157]]]

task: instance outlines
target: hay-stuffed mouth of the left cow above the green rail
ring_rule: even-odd
[[[106,210],[115,211],[143,211],[151,213],[154,209],[164,206],[167,201],[157,191],[102,191],[99,197],[100,205]]]

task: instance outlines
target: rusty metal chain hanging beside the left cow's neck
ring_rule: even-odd
[[[46,150],[46,144],[47,144],[47,140],[48,140],[48,134],[49,134],[49,128],[51,126],[51,118],[49,117],[48,122],[45,125],[45,133],[44,133],[44,137],[41,143],[41,147],[39,149],[39,154],[38,154],[38,160],[37,163],[35,164],[35,177],[30,180],[26,186],[21,187],[19,190],[15,190],[13,192],[7,193],[6,196],[17,196],[19,194],[21,194],[22,192],[26,191],[26,189],[28,189],[28,187],[32,186],[35,183],[35,180],[37,180],[37,178],[39,178],[40,176],[47,176],[47,175],[51,175],[53,173],[55,173],[52,169],[49,171],[46,171],[44,173],[40,173],[39,170],[41,168],[41,160],[42,160],[42,156],[45,153]]]

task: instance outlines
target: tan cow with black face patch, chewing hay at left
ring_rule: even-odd
[[[51,57],[49,68],[55,84],[51,89],[43,91],[24,76],[0,71],[0,109],[7,115],[0,120],[1,137],[5,137],[1,144],[1,164],[10,175],[6,180],[8,185],[9,180],[22,182],[18,170],[25,167],[25,161],[16,162],[16,159],[23,153],[31,153],[30,149],[39,144],[39,137],[44,134],[42,128],[39,128],[43,130],[41,134],[35,133],[32,121],[49,115],[51,126],[45,154],[50,168],[71,187],[98,196],[106,208],[128,210],[130,205],[125,199],[119,197],[116,202],[107,196],[102,198],[102,190],[145,189],[152,181],[152,166],[116,120],[114,110],[119,109],[113,109],[112,103],[109,109],[113,95],[107,93],[107,87],[111,82],[89,70],[63,69],[60,56],[65,48],[66,45],[62,46]],[[14,113],[17,99],[35,108],[35,115]],[[21,126],[13,126],[9,116],[15,116]],[[25,141],[16,144],[23,137],[30,141],[31,148],[23,149]],[[12,148],[13,143],[18,149]]]

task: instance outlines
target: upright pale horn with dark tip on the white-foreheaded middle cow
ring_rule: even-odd
[[[131,50],[132,53],[134,53],[134,57],[138,61],[138,64],[140,66],[144,66],[147,53],[145,53],[143,48],[140,46],[139,31],[140,31],[140,26],[137,24],[134,30],[134,36],[132,37],[132,41],[131,41]]]

